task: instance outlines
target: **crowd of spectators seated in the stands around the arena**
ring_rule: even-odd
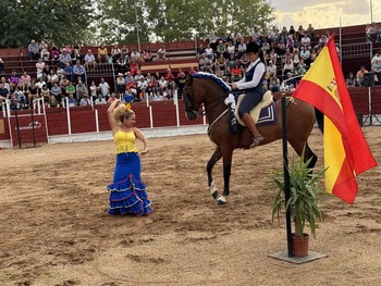
[[[367,41],[381,41],[381,28],[376,23],[366,27]],[[249,64],[245,55],[248,41],[256,41],[263,52],[267,72],[266,88],[278,92],[281,86],[293,91],[298,80],[317,59],[320,50],[329,39],[329,34],[315,35],[311,24],[307,28],[302,25],[297,29],[290,26],[281,30],[276,27],[265,32],[254,27],[250,39],[245,39],[239,32],[222,34],[211,33],[205,43],[196,51],[198,66],[189,73],[201,71],[212,73],[226,83],[242,79]],[[114,98],[126,102],[137,100],[171,100],[177,91],[179,97],[186,80],[186,73],[181,69],[175,73],[168,69],[164,74],[142,74],[143,62],[162,61],[168,59],[165,47],[152,53],[149,47],[142,51],[132,51],[123,45],[114,45],[110,51],[101,43],[96,53],[88,49],[81,51],[81,45],[66,45],[59,48],[54,42],[40,43],[34,39],[28,45],[28,60],[36,61],[36,76],[30,77],[26,72],[17,75],[13,70],[9,78],[0,78],[0,105],[5,99],[12,109],[30,108],[37,98],[44,98],[47,107],[70,107],[106,104]],[[96,85],[87,86],[86,74],[95,71],[101,64],[113,64],[118,77],[115,90],[111,92],[110,85],[105,78]],[[4,73],[4,62],[0,58],[0,74]],[[372,76],[374,84],[381,84],[381,55],[377,51],[371,60],[370,72],[365,65],[357,73],[346,77],[348,87],[364,86],[367,74]],[[114,83],[112,83],[113,85]]]

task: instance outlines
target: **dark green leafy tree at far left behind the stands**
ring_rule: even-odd
[[[0,47],[26,47],[30,39],[83,42],[91,10],[91,0],[2,0]]]

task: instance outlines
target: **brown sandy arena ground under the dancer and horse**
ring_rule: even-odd
[[[364,127],[378,162],[381,128]],[[310,250],[328,258],[294,264],[285,226],[271,224],[281,141],[234,153],[231,196],[218,208],[207,188],[213,145],[206,135],[151,138],[142,159],[155,212],[108,215],[113,142],[1,150],[0,285],[380,285],[381,167],[358,176],[354,206],[324,195],[325,221]],[[322,135],[310,146],[322,166]],[[291,153],[291,149],[288,149]],[[222,189],[222,163],[214,167]]]

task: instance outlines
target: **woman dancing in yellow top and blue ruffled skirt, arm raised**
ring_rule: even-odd
[[[146,185],[140,181],[140,154],[148,152],[148,140],[136,127],[135,113],[131,105],[124,105],[115,99],[108,109],[108,119],[115,144],[116,164],[110,191],[109,214],[146,215],[151,213]],[[143,141],[144,149],[138,151],[136,138]]]

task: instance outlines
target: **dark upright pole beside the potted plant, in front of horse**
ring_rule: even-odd
[[[286,98],[282,91],[282,144],[283,144],[283,178],[284,178],[284,198],[285,207],[290,199],[290,173],[287,158],[287,114],[286,114]],[[293,237],[291,228],[291,211],[286,209],[286,235],[287,235],[287,254],[293,257]]]

